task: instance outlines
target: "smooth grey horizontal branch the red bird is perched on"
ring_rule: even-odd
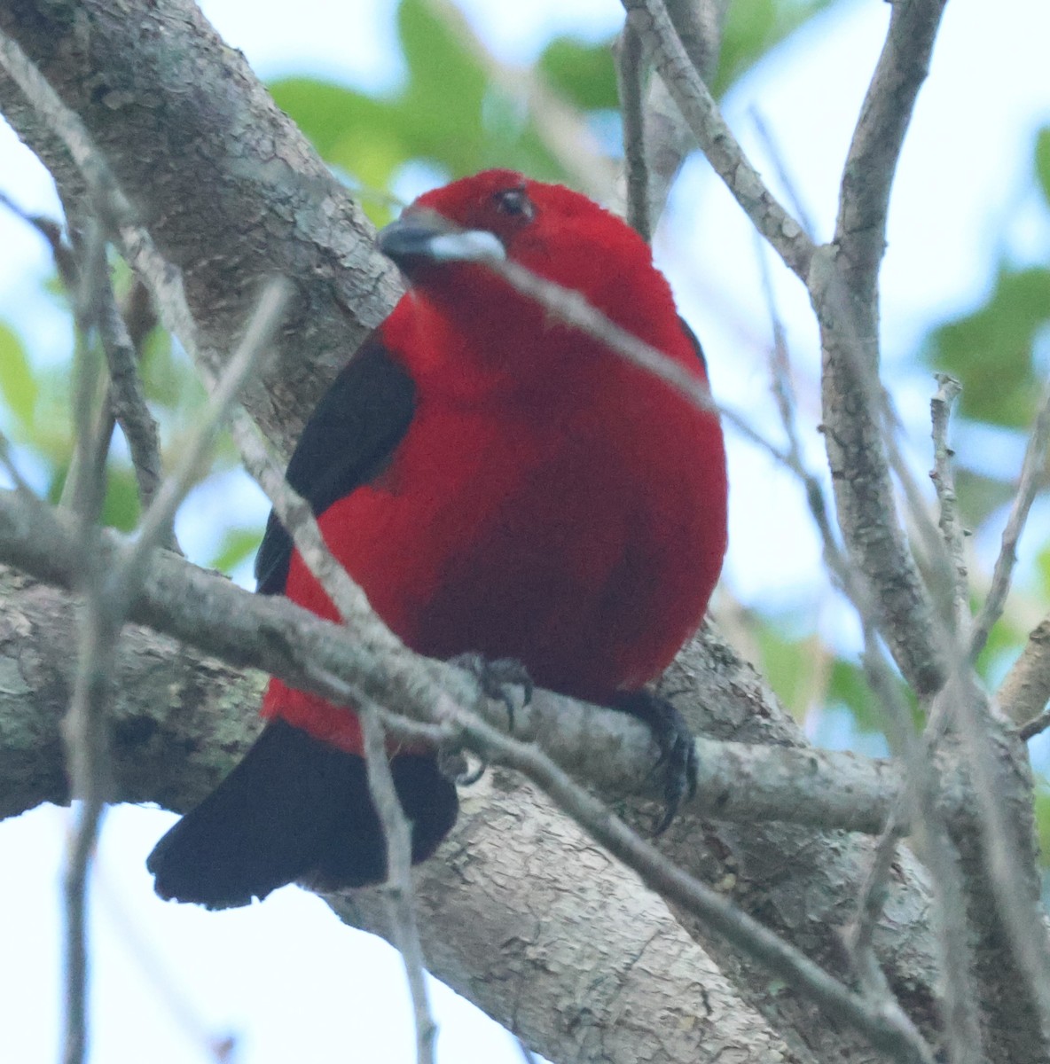
[[[103,535],[102,550],[111,569],[137,553],[134,544],[123,545],[113,534]],[[71,532],[55,514],[43,504],[27,504],[16,492],[0,491],[0,559],[70,588],[78,558]],[[319,672],[330,674],[420,720],[432,719],[435,692],[447,691],[465,704],[476,701],[467,675],[451,666],[391,648],[360,628],[348,633],[284,599],[251,595],[173,554],[155,556],[131,616],[206,653],[267,669],[301,687],[331,693],[319,678]],[[505,728],[505,710],[498,703],[488,708],[487,718]],[[659,751],[648,729],[623,714],[538,692],[516,712],[515,735],[535,741],[563,767],[613,797],[661,795],[650,770]],[[696,742],[700,785],[691,807],[698,814],[877,832],[896,799],[896,775],[883,762],[812,749]]]

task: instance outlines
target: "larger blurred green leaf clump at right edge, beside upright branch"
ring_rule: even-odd
[[[984,306],[935,330],[927,359],[963,382],[965,417],[1027,427],[1039,394],[1032,346],[1048,323],[1050,270],[1001,266]]]

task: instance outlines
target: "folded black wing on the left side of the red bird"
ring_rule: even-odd
[[[311,414],[286,477],[319,517],[366,484],[409,430],[416,388],[406,370],[371,333]],[[291,536],[270,512],[255,555],[256,591],[280,595],[291,561]]]

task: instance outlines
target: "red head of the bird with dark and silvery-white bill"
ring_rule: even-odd
[[[507,346],[561,358],[595,347],[505,277],[513,263],[583,295],[596,310],[672,358],[696,366],[674,301],[648,245],[620,218],[563,185],[485,170],[420,196],[379,236],[415,297],[454,327],[495,337],[484,350],[505,366]],[[418,307],[422,311],[422,307]],[[535,338],[541,335],[540,345]],[[565,343],[556,343],[563,335]],[[505,339],[504,339],[505,337]],[[495,368],[495,367],[494,367]]]

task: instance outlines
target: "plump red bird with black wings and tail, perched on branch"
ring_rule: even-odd
[[[705,384],[666,280],[619,218],[506,170],[421,196],[379,246],[410,290],[321,400],[288,481],[414,650],[514,659],[541,686],[647,719],[674,770],[672,811],[691,744],[641,688],[699,625],[721,568],[718,419],[485,262],[581,292]],[[273,515],[255,572],[261,593],[338,619]],[[354,714],[277,679],[262,713],[245,760],[150,854],[162,897],[223,908],[297,880],[385,878]],[[398,750],[390,767],[421,861],[455,820],[455,787],[432,751]]]

